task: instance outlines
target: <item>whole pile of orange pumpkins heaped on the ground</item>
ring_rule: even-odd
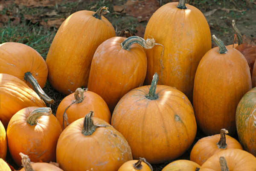
[[[0,171],[11,170],[7,145],[21,171],[255,171],[256,47],[235,21],[239,44],[225,46],[184,0],[160,7],[144,38],[115,37],[104,11],[70,15],[46,61],[0,45]],[[66,95],[55,114],[47,79]],[[174,161],[197,127],[207,136]]]

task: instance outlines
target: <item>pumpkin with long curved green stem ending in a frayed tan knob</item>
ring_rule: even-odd
[[[150,41],[154,39],[113,37],[99,45],[93,55],[88,89],[106,101],[111,113],[122,96],[143,85],[147,60],[141,46],[152,48]]]

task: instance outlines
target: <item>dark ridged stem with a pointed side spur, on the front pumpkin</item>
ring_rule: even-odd
[[[90,110],[90,112],[87,113],[84,117],[84,127],[81,132],[84,136],[93,134],[96,128],[107,127],[106,125],[96,125],[93,122],[93,115],[93,111]]]

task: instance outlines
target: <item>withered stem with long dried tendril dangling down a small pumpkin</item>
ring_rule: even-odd
[[[76,89],[76,91],[74,93],[75,100],[72,100],[72,103],[67,108],[69,108],[72,104],[78,104],[78,103],[81,103],[84,100],[84,90],[87,91],[88,89],[87,88],[84,88],[84,89],[77,88]],[[64,110],[64,113],[62,115],[62,117],[63,117],[63,122],[62,122],[63,129],[65,128],[64,127],[64,121],[66,122],[67,126],[69,125],[69,123],[67,121],[68,118],[67,118],[67,113],[66,113],[67,108]]]

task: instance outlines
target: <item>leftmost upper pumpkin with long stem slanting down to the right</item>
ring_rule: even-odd
[[[47,103],[53,103],[42,90],[48,69],[44,58],[32,47],[22,43],[7,42],[0,44],[0,73],[14,75],[28,86]]]

